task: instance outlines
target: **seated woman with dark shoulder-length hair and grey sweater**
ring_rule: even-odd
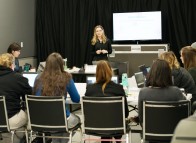
[[[179,101],[185,100],[181,90],[172,85],[171,68],[168,62],[157,59],[151,66],[146,79],[146,87],[139,92],[138,110],[142,126],[143,101]]]

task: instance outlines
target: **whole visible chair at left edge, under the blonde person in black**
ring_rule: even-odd
[[[26,129],[25,130],[18,130],[18,129],[12,130],[12,129],[10,129],[5,97],[0,96],[0,134],[1,133],[11,133],[11,142],[14,143],[14,135],[17,132],[25,132],[26,142],[28,143],[28,135],[27,135]]]

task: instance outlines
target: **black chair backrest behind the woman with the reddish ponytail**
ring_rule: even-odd
[[[82,97],[85,134],[125,134],[124,97]]]

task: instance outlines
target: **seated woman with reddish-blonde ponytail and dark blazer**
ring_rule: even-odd
[[[111,81],[112,68],[105,60],[100,60],[97,63],[96,69],[96,83],[87,85],[85,96],[124,96],[125,99],[125,117],[128,117],[128,104],[123,86]],[[116,136],[120,139],[122,136]],[[108,139],[109,137],[102,137]],[[103,142],[105,143],[105,142]]]

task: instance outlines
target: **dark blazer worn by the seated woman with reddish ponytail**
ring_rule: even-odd
[[[86,87],[85,96],[124,96],[125,98],[125,116],[128,117],[129,110],[125,91],[123,86],[116,84],[113,81],[109,82],[104,90],[105,95],[102,92],[102,84],[89,84]]]

